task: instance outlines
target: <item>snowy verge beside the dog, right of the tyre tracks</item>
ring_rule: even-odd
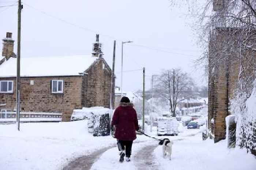
[[[163,170],[255,170],[256,159],[244,150],[227,149],[226,141],[202,141],[201,135],[174,141],[172,160],[164,159],[162,147],[154,150]]]

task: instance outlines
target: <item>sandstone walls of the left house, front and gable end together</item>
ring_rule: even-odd
[[[8,62],[8,61],[6,61]],[[102,65],[105,68],[102,68]],[[70,121],[74,109],[93,106],[110,106],[111,69],[103,58],[99,58],[83,76],[29,77],[21,78],[22,112],[62,112],[63,121]],[[16,78],[13,93],[0,93],[1,109],[16,108]],[[30,85],[34,80],[34,85]],[[51,93],[51,80],[64,80],[63,94]],[[113,84],[115,86],[115,84]]]

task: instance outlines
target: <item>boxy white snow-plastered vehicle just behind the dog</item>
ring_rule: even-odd
[[[157,122],[157,136],[178,135],[179,123],[175,117],[163,117],[163,119],[158,119]]]

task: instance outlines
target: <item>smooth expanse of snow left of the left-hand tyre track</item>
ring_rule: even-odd
[[[148,140],[140,137],[136,141]],[[23,123],[0,125],[0,169],[59,170],[79,156],[110,145],[112,136],[93,137],[87,120],[57,123]]]

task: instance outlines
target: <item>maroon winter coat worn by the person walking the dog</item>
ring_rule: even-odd
[[[121,103],[114,112],[111,126],[116,126],[115,137],[118,140],[135,140],[139,130],[138,119],[131,103]]]

